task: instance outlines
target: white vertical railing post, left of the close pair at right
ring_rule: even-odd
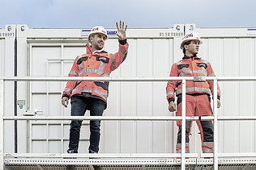
[[[186,169],[186,80],[182,80],[181,106],[181,170]]]

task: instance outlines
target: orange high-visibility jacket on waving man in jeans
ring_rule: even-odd
[[[119,50],[115,54],[105,51],[92,54],[92,48],[86,45],[86,54],[77,56],[69,77],[109,77],[110,73],[126,60],[128,46],[126,39],[119,41]],[[107,102],[109,81],[68,81],[62,97],[71,97],[82,93],[92,93]]]

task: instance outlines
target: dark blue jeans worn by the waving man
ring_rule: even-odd
[[[83,116],[86,110],[90,110],[90,116],[102,116],[105,110],[105,102],[93,97],[71,97],[71,116]],[[78,153],[80,128],[82,120],[72,120],[70,123],[69,153]],[[100,143],[100,120],[90,121],[90,146],[89,153],[97,153]]]

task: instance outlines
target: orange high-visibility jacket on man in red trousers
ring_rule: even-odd
[[[211,64],[207,60],[202,60],[198,56],[183,57],[181,61],[173,64],[170,77],[215,77]],[[174,93],[180,94],[181,81],[169,81],[166,87],[166,97],[168,102],[175,100]],[[186,93],[206,93],[213,95],[213,81],[186,81]],[[217,97],[220,99],[220,87],[218,85]]]

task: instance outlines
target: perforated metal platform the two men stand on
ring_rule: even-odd
[[[115,156],[113,156],[115,155]],[[118,154],[59,154],[59,155],[8,155],[4,156],[6,170],[122,170],[122,169],[181,169],[181,158],[173,157],[175,154],[165,154],[163,157],[156,155],[118,155]],[[169,156],[171,155],[171,156]],[[99,157],[96,157],[99,156]],[[160,155],[161,156],[161,155]],[[213,158],[194,157],[186,158],[186,169],[214,169]],[[218,169],[245,170],[256,169],[256,155],[254,156],[220,156],[218,159]]]

